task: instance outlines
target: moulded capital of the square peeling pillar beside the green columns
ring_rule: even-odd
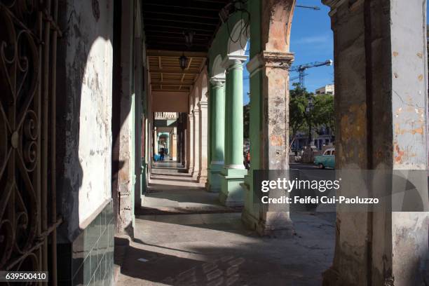
[[[247,70],[249,71],[250,76],[252,76],[252,74],[263,67],[290,69],[293,61],[294,53],[270,52],[268,50],[263,50],[247,63]]]

